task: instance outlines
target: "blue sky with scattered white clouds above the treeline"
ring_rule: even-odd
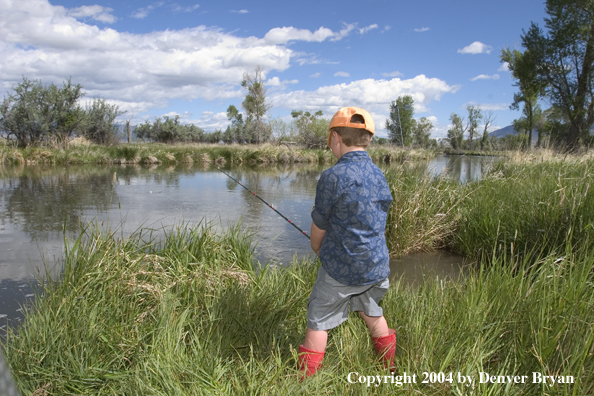
[[[525,0],[0,0],[0,90],[72,78],[122,120],[179,114],[212,131],[260,65],[270,118],[359,106],[385,136],[390,102],[410,94],[444,137],[469,104],[492,110],[490,130],[520,116],[500,53],[544,17],[544,2]]]

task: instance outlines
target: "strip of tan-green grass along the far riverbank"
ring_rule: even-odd
[[[386,146],[371,146],[369,155],[375,161],[403,162],[431,159],[430,150],[403,150]],[[176,164],[216,162],[218,164],[256,163],[332,163],[332,152],[326,149],[304,149],[286,145],[201,145],[160,143],[119,144],[100,146],[71,144],[66,149],[30,147],[16,149],[0,147],[0,164]]]

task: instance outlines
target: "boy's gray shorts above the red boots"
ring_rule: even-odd
[[[312,330],[330,330],[345,320],[350,311],[363,311],[367,316],[383,316],[378,305],[388,291],[388,278],[365,286],[347,286],[335,281],[323,267],[307,304],[307,327]]]

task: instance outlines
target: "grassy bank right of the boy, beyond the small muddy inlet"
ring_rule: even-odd
[[[467,257],[594,248],[594,160],[533,155],[498,162],[460,185],[402,166],[386,172],[394,256],[447,248]]]

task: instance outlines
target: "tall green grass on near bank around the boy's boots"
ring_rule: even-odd
[[[387,374],[365,325],[330,332],[323,370],[300,383],[296,349],[315,262],[256,272],[238,227],[175,227],[162,240],[89,229],[67,248],[18,334],[3,347],[24,394],[540,395],[594,392],[594,290],[588,251],[496,259],[465,279],[395,282],[383,300],[398,331],[398,372],[416,384],[367,388]],[[538,263],[537,266],[534,264]],[[516,268],[511,274],[508,267]],[[422,384],[423,372],[527,375],[527,384]],[[532,373],[575,384],[531,383]],[[351,376],[351,379],[356,378]],[[568,377],[566,377],[568,378]]]

